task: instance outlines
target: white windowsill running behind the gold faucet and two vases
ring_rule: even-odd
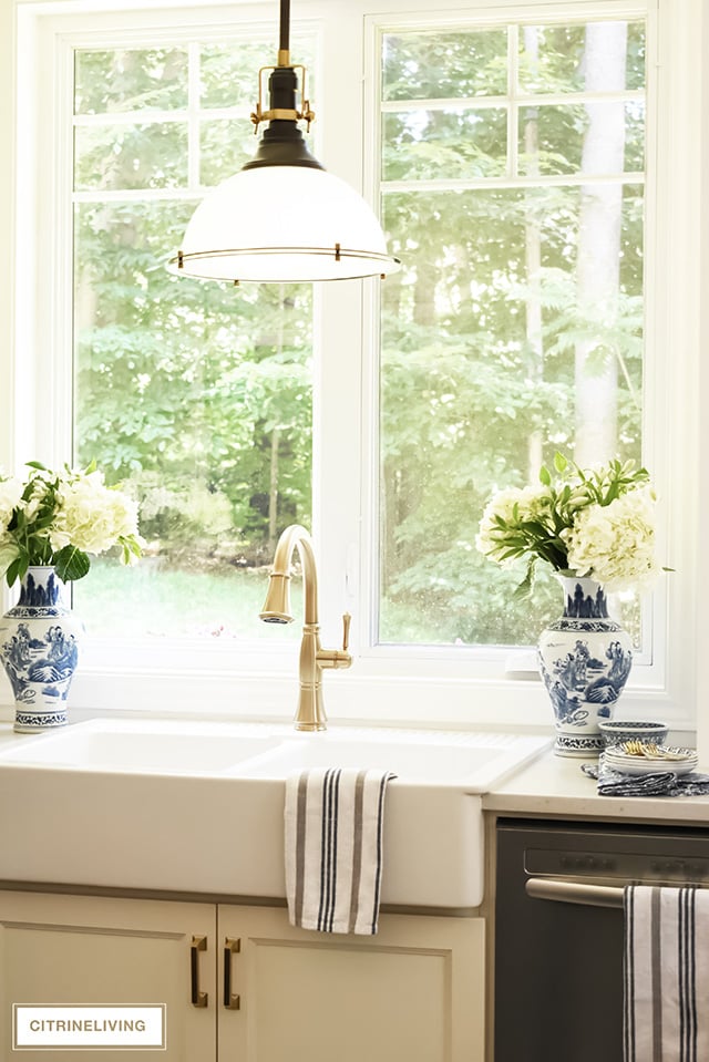
[[[292,667],[249,671],[194,671],[184,666],[155,670],[80,667],[72,685],[70,718],[112,712],[288,722],[298,691],[297,660]],[[331,722],[368,725],[415,725],[436,729],[549,726],[552,710],[538,678],[473,679],[470,674],[377,674],[366,661],[351,671],[323,677],[325,703]],[[0,687],[0,710],[12,718],[7,680]],[[4,712],[10,713],[6,716]],[[626,689],[618,718],[662,719],[674,730],[696,722],[672,705],[666,694]]]

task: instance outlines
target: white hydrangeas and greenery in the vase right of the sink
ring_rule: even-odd
[[[480,522],[477,549],[503,566],[527,559],[518,587],[523,596],[532,589],[540,560],[559,575],[592,578],[610,591],[648,586],[660,570],[648,472],[633,461],[583,470],[559,453],[554,472],[556,477],[543,465],[538,487],[494,495]]]

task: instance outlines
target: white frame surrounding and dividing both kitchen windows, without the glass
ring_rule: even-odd
[[[14,2],[20,110],[16,131],[7,122],[0,130],[14,140],[17,148],[16,195],[10,197],[14,203],[11,218],[17,218],[12,223],[13,229],[17,227],[14,285],[9,285],[7,299],[17,329],[14,358],[0,362],[0,370],[9,381],[13,406],[22,410],[22,415],[16,415],[11,430],[0,434],[0,464],[18,468],[31,457],[50,463],[64,460],[69,452],[71,328],[62,307],[68,305],[66,287],[71,288],[71,261],[66,260],[71,244],[56,221],[62,217],[70,220],[60,209],[68,193],[70,141],[66,136],[53,138],[52,131],[60,123],[49,101],[54,101],[55,111],[66,103],[68,55],[78,35],[88,40],[99,32],[100,24],[104,32],[111,23],[124,39],[126,34],[137,39],[143,22],[169,20],[174,27],[182,7],[185,23],[193,17],[186,3],[173,3],[168,9],[166,3],[148,8],[126,0],[122,13],[116,14],[110,10],[119,6],[113,0],[96,0],[95,4],[89,0]],[[701,206],[703,53],[701,33],[696,30],[701,24],[701,0],[528,0],[524,4],[463,0],[450,13],[433,14],[425,0],[327,0],[326,7],[336,11],[345,44],[333,48],[326,32],[319,99],[314,102],[316,127],[325,134],[327,152],[320,145],[317,149],[328,168],[360,186],[371,202],[378,194],[372,175],[378,145],[374,71],[380,33],[402,23],[460,24],[473,11],[487,23],[528,18],[532,11],[540,20],[647,14],[648,115],[657,113],[657,136],[649,122],[648,157],[655,159],[655,166],[646,185],[649,341],[645,461],[662,498],[660,548],[676,571],[660,580],[654,595],[654,659],[636,662],[623,708],[636,716],[640,711],[668,719],[675,729],[692,729],[700,648],[693,578],[699,546],[700,446],[705,453],[709,450],[700,437],[698,417],[702,276],[697,217]],[[235,12],[239,18],[269,22],[275,19],[275,4],[257,0],[230,4],[227,12],[215,3],[199,9],[199,20],[218,22]],[[317,3],[304,0],[295,7],[294,20],[315,19],[318,12]],[[34,51],[38,44],[39,54]],[[33,55],[31,61],[28,52]],[[264,62],[269,61],[265,56]],[[49,73],[53,89],[51,94],[42,93],[39,103],[37,70]],[[351,91],[360,80],[364,84],[361,97]],[[327,91],[322,91],[323,84]],[[347,134],[328,137],[328,130],[338,124]],[[362,144],[353,135],[360,130]],[[38,144],[50,142],[54,148],[43,151],[40,165]],[[166,248],[166,254],[169,250]],[[706,262],[703,270],[706,279]],[[321,312],[316,336],[314,533],[323,642],[338,643],[339,615],[345,609],[354,616],[354,667],[325,680],[330,718],[431,725],[548,725],[549,707],[541,683],[530,670],[508,671],[508,654],[503,650],[372,643],[378,548],[378,282],[325,286],[317,291],[316,301]],[[346,329],[343,320],[348,321]],[[50,409],[54,415],[40,421],[29,414],[32,408]],[[7,601],[7,592],[4,598]],[[194,647],[191,664],[184,662],[183,645],[165,647],[157,661],[154,646],[136,645],[126,647],[115,666],[110,647],[88,642],[72,688],[74,718],[107,710],[287,718],[295,704],[297,652],[284,645],[277,630],[273,633],[267,649],[249,651],[248,667],[239,664],[235,659],[239,654],[233,649],[202,645]],[[131,663],[126,664],[129,657]],[[512,667],[518,668],[518,661],[513,660]],[[9,684],[2,678],[0,702],[9,705],[10,700]]]

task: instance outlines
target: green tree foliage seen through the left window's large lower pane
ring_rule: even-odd
[[[192,542],[209,557],[226,538],[255,559],[269,542],[271,492],[278,529],[309,522],[310,291],[235,297],[171,277],[165,249],[188,213],[78,210],[78,452],[133,484],[142,532],[162,555],[182,563]],[[167,501],[156,506],[157,486]],[[228,530],[197,497],[220,499]]]

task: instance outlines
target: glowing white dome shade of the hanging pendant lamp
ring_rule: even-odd
[[[197,207],[169,268],[205,280],[348,280],[399,269],[374,213],[311,166],[242,169]]]

